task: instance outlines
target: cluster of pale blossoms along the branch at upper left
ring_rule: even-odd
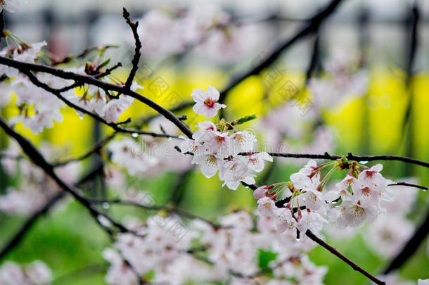
[[[41,48],[46,46],[46,42],[32,45],[25,44],[20,39],[15,39],[15,35],[9,32],[6,34],[6,39],[8,37],[14,40],[16,46],[6,46],[6,48],[0,51],[0,55],[8,56],[16,61],[34,63],[39,58]],[[95,67],[88,63],[87,66],[65,68],[65,71],[81,75],[96,75],[101,73],[100,69],[100,66]],[[2,96],[0,101],[1,105],[5,106],[11,101],[11,94],[15,94],[17,97],[14,103],[18,106],[19,114],[10,119],[12,124],[23,122],[24,126],[29,127],[34,134],[39,134],[45,128],[53,127],[54,121],[61,122],[63,120],[60,109],[65,106],[65,103],[62,100],[53,96],[53,94],[45,89],[35,87],[26,75],[19,73],[15,68],[0,65],[0,74],[8,77],[1,84],[1,90],[4,93],[4,97]],[[72,84],[70,80],[63,80],[44,73],[38,73],[37,80],[53,89],[63,89]],[[143,89],[143,87],[133,82],[131,89],[136,91]],[[77,94],[77,91],[80,94]],[[63,92],[63,97],[76,106],[104,118],[108,123],[119,120],[120,115],[134,101],[134,98],[131,96],[122,95],[117,98],[110,94],[105,94],[105,91],[94,86],[83,87],[82,89],[80,87],[69,89]],[[77,113],[82,118],[83,113],[78,110]]]

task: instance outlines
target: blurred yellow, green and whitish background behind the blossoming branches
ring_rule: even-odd
[[[231,76],[260,63],[328,2],[38,0],[28,1],[19,13],[7,13],[6,28],[28,43],[46,40],[46,53],[58,58],[79,54],[89,46],[117,45],[106,49],[102,57],[111,58],[110,63],[122,62],[124,67],[115,76],[124,80],[134,51],[132,33],[122,18],[122,7],[126,7],[140,21],[143,56],[136,79],[145,87],[141,93],[175,108],[191,101],[195,88],[224,89]],[[210,25],[207,18],[212,20]],[[89,58],[94,60],[94,56]],[[428,161],[428,66],[429,1],[342,1],[319,30],[284,49],[269,68],[234,87],[224,101],[228,106],[224,116],[234,119],[256,113],[257,122],[244,127],[260,141],[270,142],[273,151],[388,153]],[[288,98],[282,93],[285,88]],[[291,103],[292,97],[300,103]],[[2,113],[11,117],[18,110],[11,105]],[[186,123],[193,129],[203,120],[191,115],[189,107],[177,114],[188,115]],[[63,109],[63,115],[62,122],[41,134],[17,127],[36,144],[49,141],[62,146],[67,156],[79,156],[111,132],[90,118],[79,120],[74,110]],[[153,115],[146,106],[134,103],[121,120],[132,118],[130,125],[159,131],[158,121],[148,120]],[[0,139],[6,148],[4,133]],[[96,159],[86,161],[83,168]],[[165,162],[174,163],[174,159]],[[279,158],[257,182],[286,181],[305,163]],[[383,165],[383,175],[390,179],[429,184],[429,170],[424,167],[398,162]],[[159,204],[173,198],[181,208],[207,218],[233,208],[255,208],[251,192],[243,186],[230,191],[222,188],[217,177],[206,179],[193,168],[160,168],[144,177],[125,175],[124,179],[129,189],[148,191]],[[0,193],[11,183],[1,172]],[[94,182],[92,191],[115,197],[117,192],[110,187],[114,188]],[[414,189],[398,191],[409,191],[412,196],[402,217],[410,224],[411,236],[427,215],[428,195]],[[118,217],[141,215],[122,208],[109,210]],[[43,260],[53,269],[53,284],[104,284],[107,265],[101,251],[109,241],[86,216],[75,202],[58,205],[51,215],[37,221],[7,259]],[[24,216],[0,213],[0,242],[7,241],[24,221]],[[371,247],[376,237],[370,227],[342,234],[326,229],[325,234],[359,265],[382,272],[399,250],[388,255]],[[402,248],[406,240],[397,247]],[[399,270],[400,275],[414,281],[429,278],[428,254],[426,238]],[[326,284],[338,284],[338,280],[367,283],[324,248],[315,248],[310,258],[317,265],[328,265]]]

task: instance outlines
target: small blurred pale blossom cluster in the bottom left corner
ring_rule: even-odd
[[[1,285],[48,285],[51,281],[51,270],[40,260],[26,265],[7,261],[0,267]]]

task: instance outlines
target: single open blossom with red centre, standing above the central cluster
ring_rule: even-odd
[[[212,118],[217,114],[220,108],[225,108],[226,105],[217,103],[219,100],[219,91],[214,87],[209,86],[207,91],[203,89],[193,89],[191,94],[196,104],[193,106],[193,111],[200,115],[205,115],[207,118]]]

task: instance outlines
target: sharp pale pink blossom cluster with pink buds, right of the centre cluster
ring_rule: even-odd
[[[331,170],[321,179],[321,170],[326,167]],[[360,171],[360,167],[364,170]],[[310,160],[299,172],[290,175],[289,182],[256,189],[258,211],[274,217],[280,231],[297,229],[305,233],[309,229],[317,233],[328,221],[338,228],[358,227],[365,220],[373,222],[384,211],[382,202],[392,199],[387,189],[392,182],[380,174],[382,168],[380,164],[369,168],[344,158],[319,166]],[[335,189],[323,191],[337,170],[349,172],[335,184]],[[276,198],[280,195],[286,198],[278,207]]]

